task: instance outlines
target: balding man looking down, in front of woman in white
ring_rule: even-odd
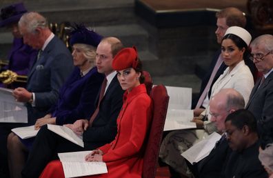
[[[245,107],[243,96],[233,88],[224,88],[220,90],[210,100],[210,114],[213,123],[215,123],[221,139],[217,141],[216,146],[210,152],[208,157],[190,166],[194,177],[219,178],[225,159],[231,152],[228,141],[225,139],[225,119],[230,113]]]

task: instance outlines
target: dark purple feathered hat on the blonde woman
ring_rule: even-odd
[[[102,38],[103,37],[100,34],[97,34],[97,32],[85,28],[83,24],[75,24],[70,32],[70,45],[73,46],[74,43],[83,43],[97,47]]]

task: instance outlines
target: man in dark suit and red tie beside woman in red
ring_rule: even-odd
[[[96,106],[99,110],[94,112],[90,121],[79,119],[73,124],[65,125],[77,135],[82,135],[84,147],[73,144],[48,130],[47,126],[42,126],[34,141],[26,166],[23,168],[23,177],[39,177],[49,161],[58,159],[58,152],[94,150],[114,139],[117,134],[117,117],[123,103],[124,91],[117,80],[117,72],[112,69],[112,60],[121,48],[123,48],[121,41],[114,37],[105,38],[99,43],[96,51],[97,70],[107,79],[105,90],[103,91],[104,85],[102,84],[97,97]]]

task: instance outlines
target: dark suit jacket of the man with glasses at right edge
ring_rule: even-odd
[[[261,146],[264,147],[273,142],[273,72],[259,87],[260,82],[261,79],[256,82],[245,108],[250,110],[257,120]]]

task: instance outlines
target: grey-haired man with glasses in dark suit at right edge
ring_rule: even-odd
[[[273,143],[273,36],[263,34],[250,44],[252,61],[263,77],[256,82],[245,108],[257,120],[261,147]]]

